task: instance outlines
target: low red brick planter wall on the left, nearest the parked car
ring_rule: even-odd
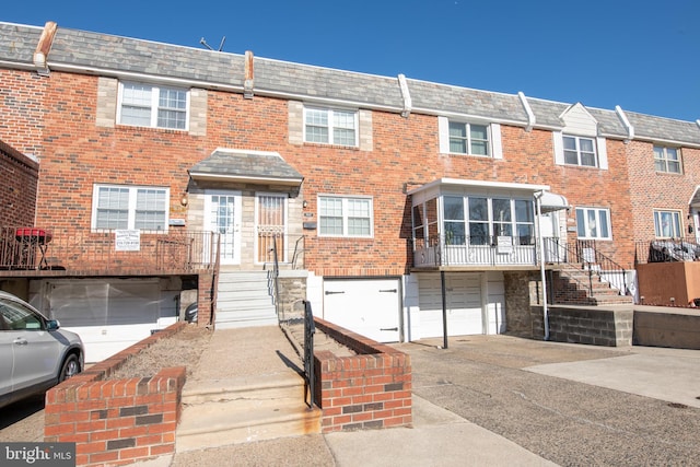
[[[108,377],[186,325],[176,323],[48,390],[44,440],[74,442],[79,466],[125,465],[174,453],[186,369],[163,369],[143,378]]]

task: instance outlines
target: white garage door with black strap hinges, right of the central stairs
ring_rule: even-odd
[[[398,279],[324,281],[324,319],[377,342],[398,342]]]

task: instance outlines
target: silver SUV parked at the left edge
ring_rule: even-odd
[[[59,326],[0,291],[0,407],[45,393],[83,370],[82,340]]]

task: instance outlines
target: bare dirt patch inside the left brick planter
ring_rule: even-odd
[[[171,337],[159,339],[148,349],[127,360],[109,380],[153,376],[161,369],[186,366],[187,377],[199,363],[202,351],[211,339],[211,330],[188,325]]]

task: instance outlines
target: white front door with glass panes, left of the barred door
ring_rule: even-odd
[[[207,191],[205,226],[220,237],[222,265],[241,264],[241,191]]]

